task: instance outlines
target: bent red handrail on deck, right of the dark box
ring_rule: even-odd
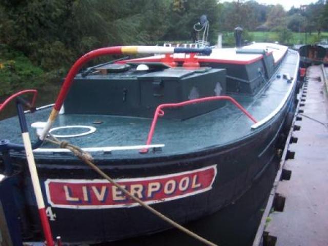
[[[247,111],[245,110],[234,98],[230,96],[211,96],[211,97],[202,97],[202,98],[197,98],[197,99],[192,99],[188,101],[182,101],[181,103],[175,103],[175,104],[161,104],[158,105],[154,118],[152,121],[152,125],[150,127],[149,133],[148,133],[148,138],[147,138],[147,143],[146,145],[150,145],[153,139],[155,127],[157,124],[157,119],[158,116],[162,117],[164,115],[164,108],[178,108],[190,104],[195,104],[195,103],[203,103],[204,101],[214,101],[214,100],[229,100],[231,103],[233,103],[238,109],[240,109],[247,117],[249,117],[254,123],[257,123],[257,120]],[[140,153],[147,153],[148,149],[142,149],[140,150]]]

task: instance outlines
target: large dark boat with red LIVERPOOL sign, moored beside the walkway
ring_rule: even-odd
[[[111,54],[154,55],[83,69]],[[47,141],[51,135],[88,152],[126,190],[185,224],[232,204],[271,165],[295,111],[298,67],[296,51],[269,43],[109,47],[79,58],[55,104],[25,112],[53,235],[96,243],[170,224]],[[0,173],[15,177],[12,207],[22,235],[40,240],[16,117],[0,121],[1,139]]]

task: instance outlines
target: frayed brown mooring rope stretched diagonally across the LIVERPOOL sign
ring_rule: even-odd
[[[155,214],[156,216],[158,216],[159,218],[161,218],[162,220],[165,220],[166,222],[168,222],[169,224],[171,224],[171,226],[179,229],[180,231],[188,234],[189,236],[199,240],[200,242],[206,244],[206,245],[210,245],[210,246],[218,246],[217,244],[197,235],[196,233],[188,230],[185,227],[182,227],[179,223],[173,221],[172,219],[168,218],[167,216],[163,215],[162,213],[158,212],[157,210],[155,210],[154,208],[150,207],[147,203],[145,203],[144,201],[140,200],[138,197],[134,196],[133,194],[131,194],[129,191],[127,191],[125,188],[123,188],[122,186],[120,186],[114,179],[112,179],[111,177],[109,177],[106,173],[104,173],[103,171],[101,171],[96,165],[94,165],[94,163],[92,162],[92,156],[81,150],[79,147],[70,144],[68,141],[60,141],[58,140],[56,137],[52,136],[51,134],[49,134],[50,137],[47,137],[45,140],[51,142],[52,144],[58,145],[60,148],[66,148],[70,151],[73,152],[73,154],[75,156],[77,156],[79,159],[83,160],[85,163],[87,163],[87,165],[89,167],[91,167],[94,171],[96,171],[101,177],[107,179],[109,182],[111,182],[114,186],[117,187],[117,189],[119,189],[120,191],[122,191],[123,193],[125,193],[127,196],[131,197],[133,200],[135,200],[136,202],[138,202],[140,204],[140,206],[144,207],[145,209],[147,209],[148,211],[150,211],[151,213]]]

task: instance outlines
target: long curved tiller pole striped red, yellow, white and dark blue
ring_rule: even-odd
[[[44,140],[55,121],[61,106],[67,96],[69,89],[73,84],[75,75],[85,65],[89,60],[103,56],[103,55],[113,55],[113,54],[173,54],[173,53],[200,53],[203,55],[210,55],[212,50],[210,48],[182,48],[182,47],[160,47],[160,46],[115,46],[100,48],[81,56],[78,58],[70,71],[68,72],[64,84],[60,89],[60,92],[55,101],[55,105],[49,115],[46,126],[44,127],[42,133],[40,134],[40,140]]]

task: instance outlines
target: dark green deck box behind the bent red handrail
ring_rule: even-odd
[[[224,95],[226,70],[182,67],[130,69],[105,75],[77,75],[64,103],[65,114],[106,114],[152,118],[160,104]],[[223,107],[225,101],[165,110],[166,118],[187,119]]]

